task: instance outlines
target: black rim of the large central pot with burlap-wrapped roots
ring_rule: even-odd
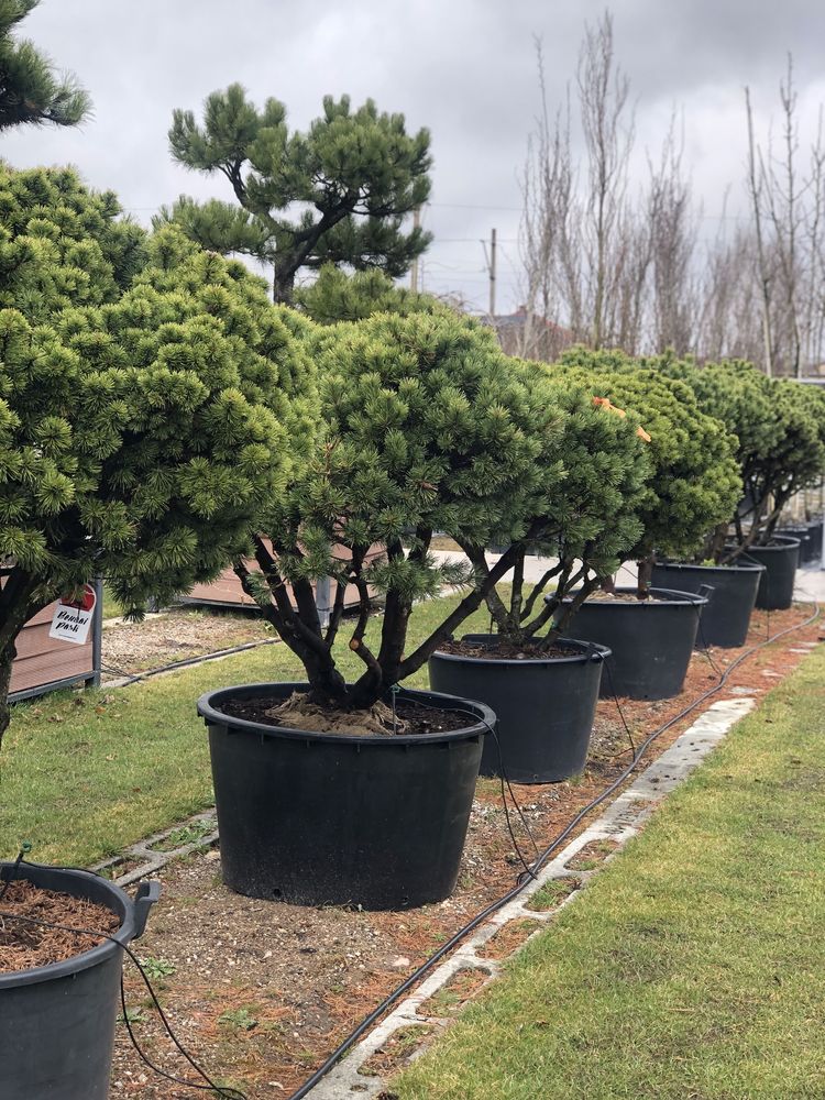
[[[233,684],[230,688],[218,688],[217,690],[213,689],[212,691],[205,692],[200,696],[197,703],[198,714],[204,719],[206,726],[226,726],[228,727],[228,732],[231,727],[242,733],[266,736],[274,739],[314,741],[355,747],[360,747],[362,745],[383,745],[386,747],[393,747],[399,745],[433,745],[444,741],[461,741],[479,737],[480,735],[483,737],[496,728],[497,718],[493,710],[488,707],[486,703],[482,703],[474,698],[463,698],[460,695],[447,695],[443,692],[427,691],[425,689],[417,688],[400,688],[398,696],[400,698],[406,697],[420,703],[420,697],[417,698],[417,696],[428,695],[436,700],[444,701],[443,705],[439,702],[439,710],[453,712],[464,711],[469,713],[469,716],[472,713],[471,708],[473,708],[474,712],[476,712],[472,713],[472,717],[475,721],[468,726],[462,726],[460,729],[448,729],[442,733],[435,734],[396,734],[393,736],[387,734],[323,734],[316,733],[312,729],[295,729],[292,726],[271,726],[263,722],[251,722],[249,718],[235,718],[232,715],[224,714],[222,711],[217,708],[217,704],[224,697],[230,695],[237,696],[239,692],[253,695],[265,694],[267,689],[278,689],[278,693],[280,694],[285,689],[287,693],[290,693],[295,691],[307,691],[308,688],[309,684],[306,681],[271,681],[267,683]],[[216,698],[216,696],[220,696],[220,698]]]

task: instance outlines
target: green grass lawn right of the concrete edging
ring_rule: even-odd
[[[824,1016],[825,648],[391,1092],[822,1100]]]

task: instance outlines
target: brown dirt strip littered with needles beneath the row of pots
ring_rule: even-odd
[[[800,623],[809,608],[756,613],[749,645]],[[750,657],[717,696],[732,688],[769,691],[802,659],[802,642],[822,638],[822,620]],[[162,628],[163,629],[163,628]],[[802,650],[794,652],[793,650]],[[717,669],[741,650],[711,651]],[[676,714],[717,682],[707,657],[694,654],[685,691],[657,703],[622,701],[634,737]],[[698,713],[698,712],[697,712]],[[694,721],[682,719],[659,738],[650,762]],[[540,846],[619,773],[628,760],[627,735],[615,701],[598,704],[584,774],[576,781],[516,787],[515,793]],[[584,827],[584,825],[582,825]],[[527,854],[530,840],[519,832]],[[184,1046],[221,1084],[250,1100],[288,1097],[349,1030],[470,916],[501,897],[520,865],[507,832],[498,783],[481,780],[459,886],[437,905],[404,913],[305,909],[254,901],[228,891],[211,850],[170,865],[161,875],[163,898],[136,945]],[[158,1026],[146,991],[127,965],[127,1000],[135,1034],[167,1072],[195,1080]],[[118,1028],[112,1100],[177,1100],[193,1093],[161,1080]]]

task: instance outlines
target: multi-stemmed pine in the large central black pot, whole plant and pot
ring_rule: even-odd
[[[559,411],[493,333],[446,310],[323,329],[316,355],[326,435],[262,513],[256,568],[237,563],[306,682],[232,688],[199,703],[221,861],[243,893],[404,908],[454,886],[494,717],[482,704],[398,685],[518,552],[479,578],[439,564],[432,535],[474,544],[527,535],[529,501],[547,477],[542,437],[558,431]],[[334,586],[326,623],[312,586],[324,576]],[[349,678],[333,648],[348,585],[359,594],[348,624],[359,671]],[[410,650],[415,605],[446,585],[464,594]],[[380,619],[371,588],[383,594]]]

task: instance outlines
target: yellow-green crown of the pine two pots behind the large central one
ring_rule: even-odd
[[[642,530],[622,556],[640,563],[644,591],[656,552],[690,557],[736,507],[736,437],[702,410],[683,382],[623,352],[574,348],[549,370],[560,378],[586,380],[600,396],[632,410],[650,436],[651,476],[638,514]]]

